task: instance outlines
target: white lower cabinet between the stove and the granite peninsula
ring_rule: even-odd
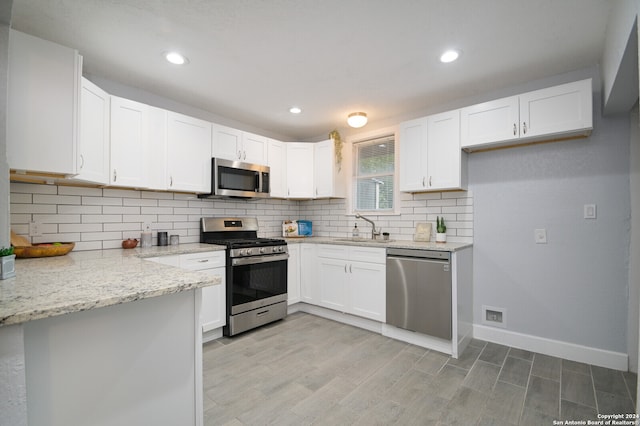
[[[210,275],[222,277],[220,285],[202,288],[202,308],[200,321],[202,332],[220,328],[226,325],[226,291],[225,291],[225,251],[190,253],[173,256],[151,257],[147,260],[163,265],[176,266],[189,271],[201,271]]]

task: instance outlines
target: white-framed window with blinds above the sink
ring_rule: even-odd
[[[393,212],[394,136],[354,143],[354,210]]]

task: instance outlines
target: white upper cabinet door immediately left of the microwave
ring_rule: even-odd
[[[169,189],[211,192],[211,123],[169,112],[167,160]]]

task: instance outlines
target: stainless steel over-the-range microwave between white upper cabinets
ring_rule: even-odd
[[[269,175],[269,166],[212,158],[211,194],[199,197],[266,198],[269,196]]]

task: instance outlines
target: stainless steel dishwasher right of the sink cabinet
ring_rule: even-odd
[[[387,249],[387,324],[451,339],[451,253]]]

